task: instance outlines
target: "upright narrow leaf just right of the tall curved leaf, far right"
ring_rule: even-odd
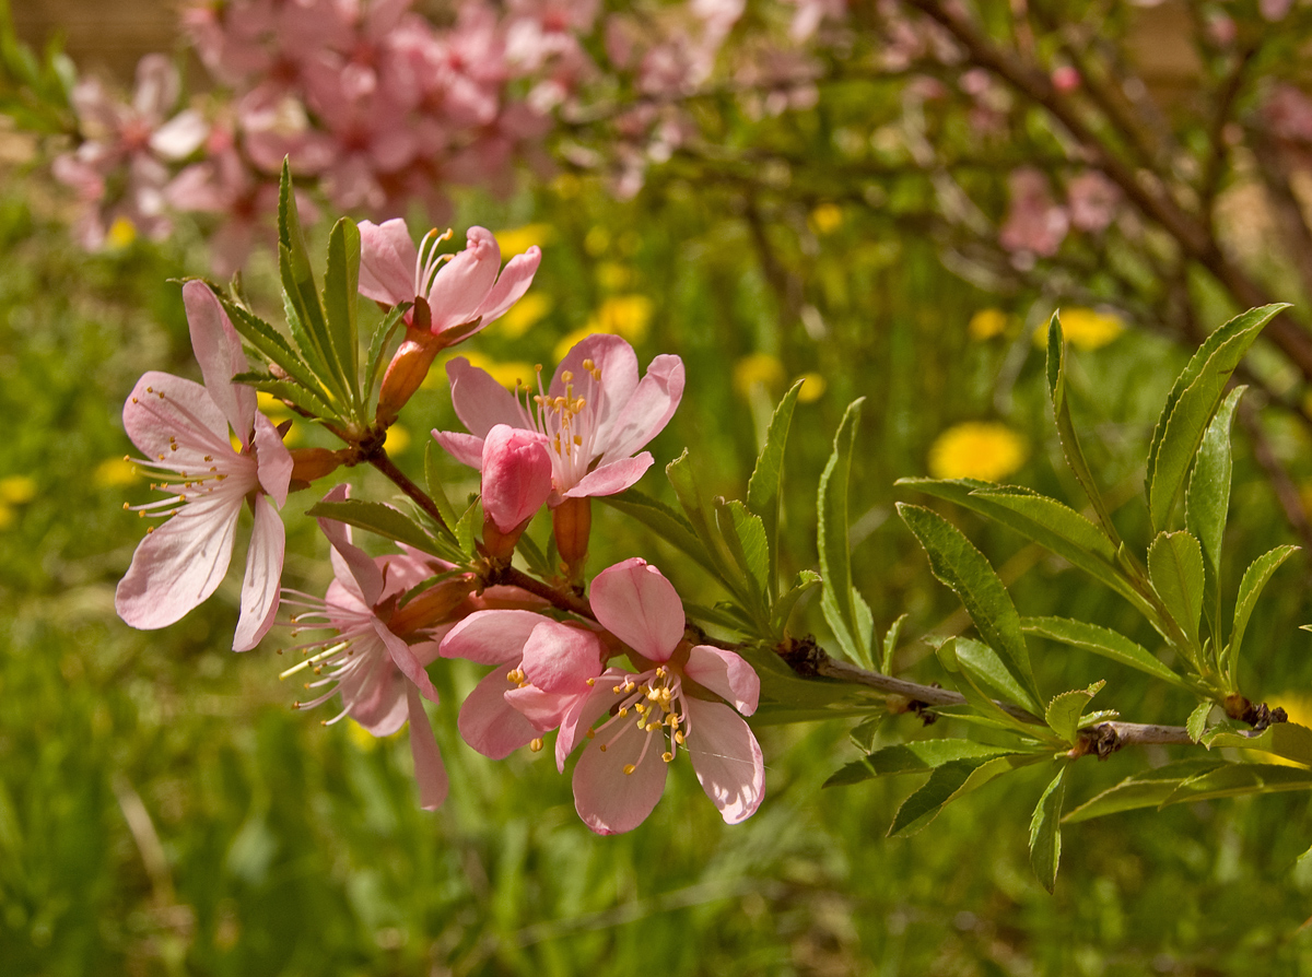
[[[1212,648],[1225,640],[1220,627],[1221,538],[1229,511],[1231,425],[1246,387],[1236,387],[1207,425],[1185,493],[1185,526],[1203,547],[1203,616]]]

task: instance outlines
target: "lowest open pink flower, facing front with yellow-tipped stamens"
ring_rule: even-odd
[[[665,767],[681,746],[727,824],[756,813],[765,762],[739,715],[756,712],[761,682],[752,666],[722,648],[689,647],[678,594],[646,560],[625,560],[598,573],[592,608],[643,670],[611,669],[596,679],[589,711],[607,709],[611,716],[588,733],[575,767],[575,808],[584,824],[598,834],[640,825],[660,800]],[[707,691],[732,707],[706,698]]]

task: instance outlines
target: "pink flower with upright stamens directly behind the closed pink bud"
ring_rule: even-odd
[[[684,362],[656,357],[639,380],[638,355],[618,336],[593,334],[565,355],[531,407],[471,366],[446,365],[455,413],[470,434],[433,431],[437,442],[471,468],[483,467],[484,439],[499,424],[541,434],[551,459],[550,505],[565,498],[611,496],[636,483],[652,464],[635,452],[673,417],[684,396]]]

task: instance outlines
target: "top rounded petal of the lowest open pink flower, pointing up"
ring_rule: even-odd
[[[668,661],[684,637],[684,605],[642,557],[607,567],[592,582],[592,610],[606,631],[649,661]]]

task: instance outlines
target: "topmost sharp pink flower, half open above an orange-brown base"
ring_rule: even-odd
[[[542,250],[534,245],[502,270],[501,249],[485,228],[471,227],[464,250],[450,258],[437,254],[441,240],[437,231],[429,231],[416,248],[400,218],[382,224],[361,220],[359,294],[384,306],[422,299],[430,315],[428,330],[449,346],[523,298]],[[407,321],[415,321],[415,309],[407,312]]]

